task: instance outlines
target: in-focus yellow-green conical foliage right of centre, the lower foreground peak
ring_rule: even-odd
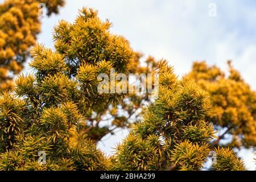
[[[207,161],[214,138],[213,126],[205,120],[208,94],[187,77],[178,80],[166,61],[159,74],[159,98],[118,144],[112,169],[200,170]],[[245,169],[229,148],[216,151],[214,169]]]

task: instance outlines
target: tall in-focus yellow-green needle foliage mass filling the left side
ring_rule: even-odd
[[[63,24],[56,35],[61,36]],[[82,9],[69,26],[74,29],[69,30],[71,38],[84,43],[71,44],[71,51],[93,51],[83,58],[77,51],[73,60],[40,44],[32,48],[35,74],[20,75],[14,94],[5,92],[0,98],[1,169],[106,169],[95,141],[110,131],[99,125],[101,115],[123,94],[99,94],[97,76],[110,75],[112,68],[127,72],[133,51],[125,38],[110,34],[110,23],[92,9]],[[79,31],[84,35],[79,37]],[[46,152],[46,166],[38,164],[38,151]]]

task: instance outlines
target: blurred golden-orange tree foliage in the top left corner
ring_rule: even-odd
[[[40,6],[47,15],[59,12],[63,0],[7,0],[0,5],[0,92],[9,90],[13,77],[23,69],[28,49],[40,32]]]

